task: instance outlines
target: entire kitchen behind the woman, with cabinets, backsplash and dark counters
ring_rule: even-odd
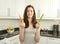
[[[19,16],[29,4],[34,6],[37,19],[44,13],[39,44],[60,44],[60,0],[0,0],[0,44],[20,44]],[[9,26],[15,31],[8,32]]]

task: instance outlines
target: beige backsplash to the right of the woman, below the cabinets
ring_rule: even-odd
[[[41,22],[40,27],[42,29],[52,30],[54,24],[59,25],[59,31],[60,31],[60,21],[58,20],[44,20]]]

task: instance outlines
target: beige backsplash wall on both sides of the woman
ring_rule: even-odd
[[[1,29],[7,29],[8,26],[19,27],[19,24],[20,24],[19,19],[0,20],[0,30]],[[40,28],[52,30],[53,24],[59,24],[60,25],[60,21],[59,20],[43,20],[40,23]],[[59,30],[60,30],[60,27],[59,27]]]

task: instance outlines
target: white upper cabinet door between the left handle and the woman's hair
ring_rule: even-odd
[[[25,9],[25,0],[10,0],[10,16],[11,17],[19,17],[23,16],[24,9]]]

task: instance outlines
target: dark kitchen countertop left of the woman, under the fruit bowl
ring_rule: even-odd
[[[10,38],[19,34],[19,28],[15,28],[15,31],[12,34],[9,34],[7,30],[0,31],[0,40],[4,38]]]

